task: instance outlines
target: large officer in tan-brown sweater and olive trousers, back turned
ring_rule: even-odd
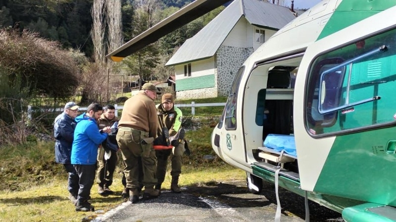
[[[154,189],[157,184],[156,157],[152,148],[152,141],[156,137],[158,120],[154,99],[157,89],[151,83],[145,83],[142,90],[129,98],[122,110],[118,122],[117,143],[125,162],[124,174],[129,189],[129,199],[132,203],[139,201],[139,165],[138,157],[142,157],[143,197],[159,196],[159,190]]]

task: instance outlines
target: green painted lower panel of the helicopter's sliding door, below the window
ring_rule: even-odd
[[[314,191],[396,206],[395,143],[396,127],[337,136]]]

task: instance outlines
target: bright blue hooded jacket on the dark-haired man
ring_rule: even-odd
[[[98,147],[106,138],[107,133],[100,133],[94,118],[83,113],[76,117],[77,126],[74,130],[71,163],[81,165],[96,164]]]

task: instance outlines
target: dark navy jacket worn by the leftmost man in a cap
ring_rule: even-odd
[[[65,112],[55,118],[53,135],[55,137],[55,161],[57,163],[71,163],[71,146],[76,124],[76,121]]]

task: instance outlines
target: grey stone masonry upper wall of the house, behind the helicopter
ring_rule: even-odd
[[[220,46],[216,54],[218,96],[228,96],[230,94],[235,75],[253,51],[253,47]]]

